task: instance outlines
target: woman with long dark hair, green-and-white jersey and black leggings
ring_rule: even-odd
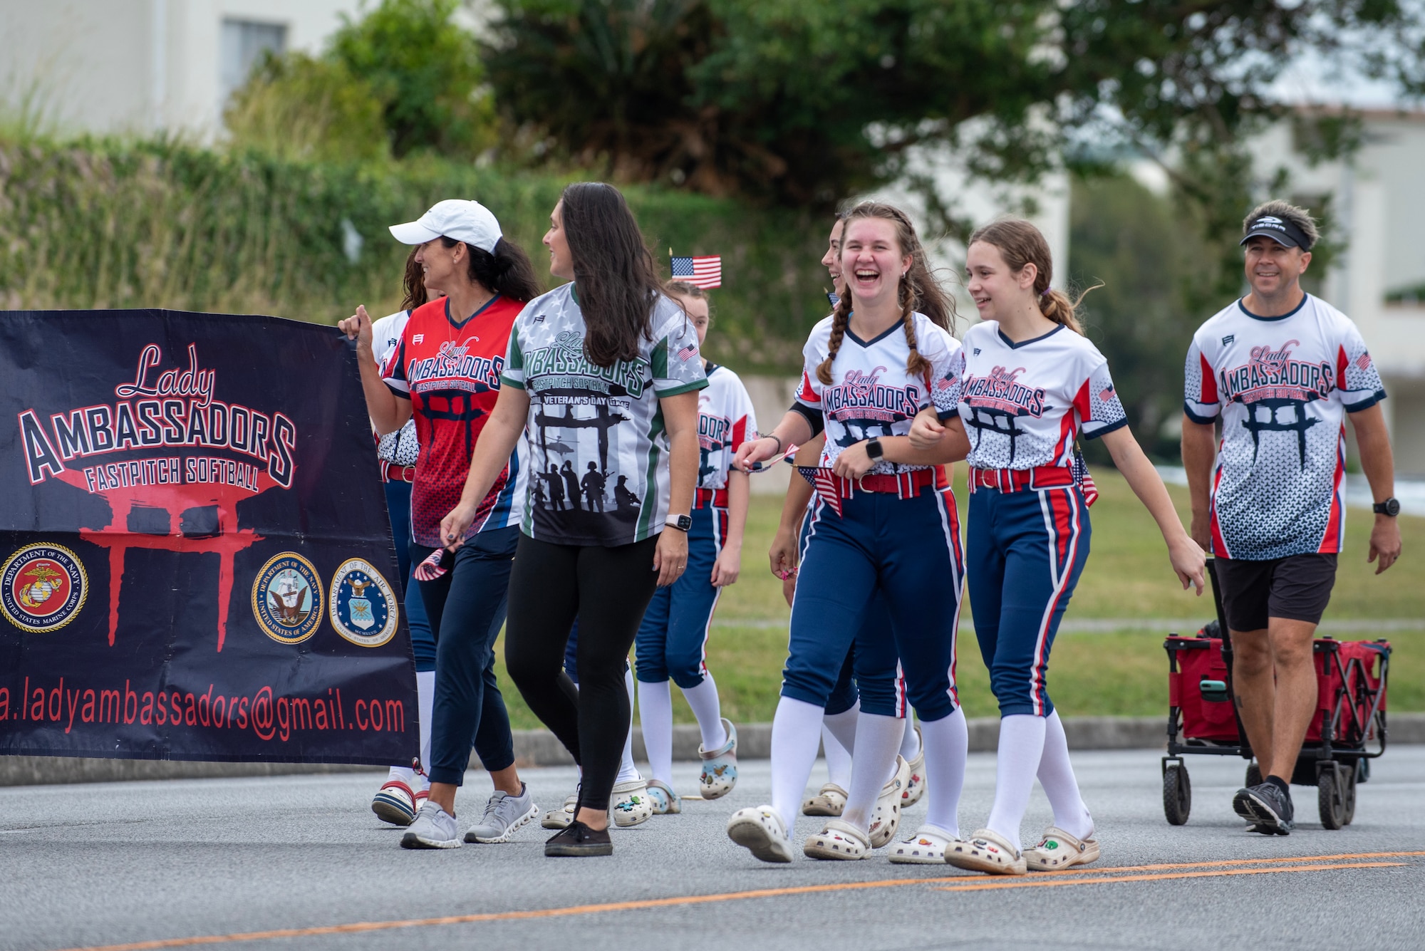
[[[583,769],[573,821],[546,856],[607,856],[608,804],[628,732],[624,663],[656,585],[688,561],[698,470],[698,337],[664,296],[653,256],[611,185],[564,189],[544,235],[550,272],[571,283],[530,302],[510,333],[504,389],[442,522],[459,544],[503,458],[527,436],[542,473],[594,464],[603,511],[524,501],[510,575],[504,661],[530,709]],[[620,490],[623,494],[620,494]],[[563,672],[579,619],[579,689]]]

